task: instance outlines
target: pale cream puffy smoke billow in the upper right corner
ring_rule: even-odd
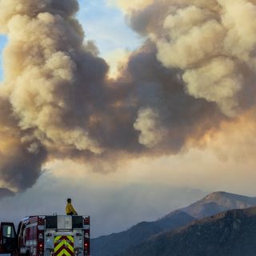
[[[255,3],[160,0],[130,18],[134,29],[155,43],[158,60],[182,70],[188,94],[215,102],[234,117],[248,106],[245,94],[254,91]]]

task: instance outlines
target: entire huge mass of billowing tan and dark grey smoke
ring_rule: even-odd
[[[84,42],[76,0],[0,0],[9,39],[2,186],[26,190],[55,158],[101,171],[104,161],[178,154],[254,106],[255,1],[124,3],[146,42],[110,80],[96,46]]]

